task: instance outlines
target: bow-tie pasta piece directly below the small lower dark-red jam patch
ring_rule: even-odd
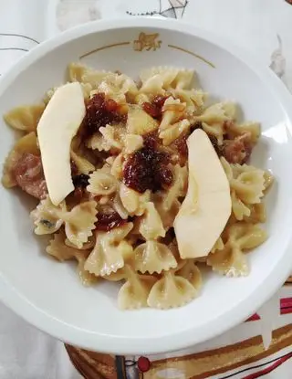
[[[132,255],[132,247],[124,240],[133,224],[115,227],[110,232],[96,232],[96,245],[85,264],[85,269],[97,277],[110,275],[123,268],[125,259]]]

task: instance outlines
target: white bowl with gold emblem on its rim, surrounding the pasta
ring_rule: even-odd
[[[141,32],[158,33],[161,47],[135,51],[133,41]],[[100,49],[114,44],[121,45]],[[82,60],[130,76],[153,65],[194,68],[203,89],[215,98],[236,100],[246,120],[262,123],[252,162],[276,177],[267,196],[269,238],[249,255],[246,278],[209,273],[200,297],[183,308],[119,311],[119,287],[106,283],[83,288],[70,265],[47,258],[32,233],[31,205],[1,186],[0,299],[37,328],[90,350],[145,354],[182,349],[244,321],[281,286],[292,267],[290,94],[272,71],[219,37],[177,21],[133,18],[79,26],[36,47],[1,80],[0,114],[40,100],[63,81],[69,62],[95,49]],[[14,136],[0,123],[3,163]]]

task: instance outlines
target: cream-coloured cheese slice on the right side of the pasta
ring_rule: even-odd
[[[189,185],[174,220],[181,258],[209,254],[231,215],[230,186],[208,135],[195,130],[187,141]]]

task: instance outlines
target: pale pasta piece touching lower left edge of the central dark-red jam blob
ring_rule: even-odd
[[[145,205],[150,201],[151,192],[145,191],[140,194],[127,187],[127,185],[120,184],[120,200],[122,205],[127,209],[130,216],[142,216],[145,212]]]

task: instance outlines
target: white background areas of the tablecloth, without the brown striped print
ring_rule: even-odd
[[[183,17],[195,26],[232,38],[238,45],[253,50],[292,90],[292,5],[287,3],[285,0],[0,0],[0,74],[26,50],[68,27],[99,18],[146,14]],[[292,287],[280,290],[258,312],[262,316],[260,321],[242,324],[194,350],[239,342],[260,334],[263,329],[271,331],[289,324],[292,328],[292,314],[282,311],[280,315],[279,299],[286,299],[282,303],[283,310],[287,310],[285,304],[287,299],[292,300]],[[269,333],[264,335],[268,344]],[[287,360],[266,377],[290,379],[291,373],[292,360]],[[61,342],[36,331],[0,304],[0,379],[14,378],[77,379],[80,375],[69,362]]]

